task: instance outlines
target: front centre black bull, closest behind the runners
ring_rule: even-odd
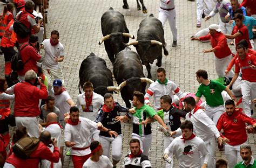
[[[133,92],[139,91],[145,95],[146,82],[153,82],[145,78],[139,55],[131,51],[130,47],[126,47],[117,54],[113,64],[113,73],[126,107],[129,108],[131,107],[129,100],[133,99]]]

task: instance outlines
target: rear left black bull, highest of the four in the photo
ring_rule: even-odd
[[[129,42],[129,38],[134,39],[132,34],[129,34],[124,15],[110,8],[104,12],[101,19],[103,38],[99,44],[104,41],[105,50],[110,61],[114,62],[114,56],[126,47],[124,43]]]

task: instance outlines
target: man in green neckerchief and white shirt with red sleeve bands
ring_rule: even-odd
[[[157,69],[157,78],[158,80],[154,83],[151,83],[149,89],[147,89],[147,93],[145,94],[145,104],[151,106],[150,98],[153,96],[154,98],[154,109],[160,110],[160,97],[163,95],[170,95],[172,100],[174,100],[173,92],[181,99],[183,97],[183,93],[180,91],[177,85],[167,80],[166,73],[164,68]]]

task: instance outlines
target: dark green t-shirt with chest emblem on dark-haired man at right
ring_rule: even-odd
[[[205,96],[206,104],[211,107],[217,107],[224,104],[221,92],[226,89],[226,86],[217,81],[210,81],[208,86],[201,84],[197,90],[196,96]]]

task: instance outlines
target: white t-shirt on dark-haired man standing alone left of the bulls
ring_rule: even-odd
[[[50,39],[45,39],[42,43],[44,45],[44,58],[42,62],[43,69],[57,69],[60,68],[59,62],[55,62],[54,58],[64,56],[64,47],[61,43],[52,46]]]

